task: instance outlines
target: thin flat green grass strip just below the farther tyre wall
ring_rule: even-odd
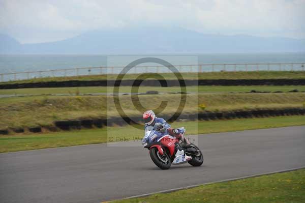
[[[175,93],[181,92],[179,87],[154,87],[154,86],[140,86],[139,93],[146,91],[159,91],[162,93]],[[251,90],[260,92],[275,92],[282,91],[288,92],[291,90],[305,91],[305,85],[283,85],[283,86],[267,86],[267,85],[252,85],[252,86],[188,86],[187,92],[189,93],[245,93]],[[131,86],[121,86],[119,88],[121,93],[131,93]],[[92,94],[92,93],[113,93],[112,87],[105,86],[88,86],[88,87],[73,87],[73,88],[25,88],[25,89],[9,89],[0,90],[0,95],[47,95],[47,94]]]

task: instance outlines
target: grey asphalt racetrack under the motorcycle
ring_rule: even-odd
[[[197,141],[203,165],[169,170],[159,169],[147,149],[105,143],[0,154],[0,201],[101,202],[305,166],[305,126],[205,134]]]

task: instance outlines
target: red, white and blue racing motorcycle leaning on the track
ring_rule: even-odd
[[[182,135],[186,132],[183,127],[177,130]],[[142,145],[149,150],[151,160],[161,169],[169,169],[171,164],[188,162],[192,166],[201,166],[203,163],[203,155],[194,143],[186,145],[184,141],[155,128],[145,132]]]

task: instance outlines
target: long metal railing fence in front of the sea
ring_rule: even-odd
[[[199,64],[199,65],[176,65],[179,72],[221,72],[221,71],[304,71],[305,63],[245,63],[245,64]],[[14,73],[0,73],[0,81],[16,81],[43,77],[70,77],[98,74],[118,74],[125,67],[86,67],[54,69],[45,71],[28,71]],[[129,73],[168,73],[164,66],[136,66]]]

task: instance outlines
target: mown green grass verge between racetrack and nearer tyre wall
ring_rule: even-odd
[[[184,126],[189,135],[299,125],[305,125],[304,116],[175,122],[172,124],[172,127],[177,128]],[[108,127],[45,134],[3,135],[0,136],[0,153],[103,143],[107,142],[107,135],[108,137],[142,137],[143,130],[136,129],[133,126],[124,126],[120,128]]]

